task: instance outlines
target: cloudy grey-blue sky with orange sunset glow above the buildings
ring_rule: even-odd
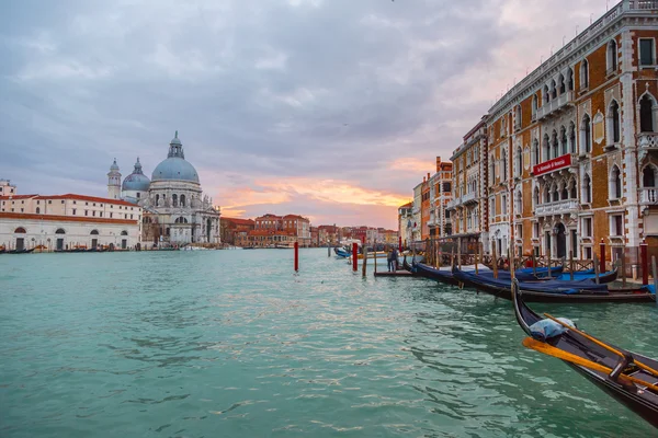
[[[610,4],[613,4],[610,1]],[[223,216],[397,207],[605,0],[0,2],[0,178],[106,196],[174,131]]]

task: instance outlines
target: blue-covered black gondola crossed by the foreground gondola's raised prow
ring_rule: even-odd
[[[511,279],[491,278],[454,268],[453,276],[466,286],[497,297],[511,299]],[[656,295],[647,286],[631,289],[609,289],[591,281],[524,281],[520,284],[529,302],[655,302]]]

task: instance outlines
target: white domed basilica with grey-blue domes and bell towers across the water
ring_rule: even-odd
[[[203,195],[198,174],[185,160],[178,131],[169,143],[167,159],[156,166],[150,180],[139,158],[123,183],[121,176],[115,159],[107,173],[107,197],[143,207],[144,243],[220,243],[219,209]]]

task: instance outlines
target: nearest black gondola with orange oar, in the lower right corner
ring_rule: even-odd
[[[526,295],[521,292],[518,284],[515,284],[512,287],[512,300],[517,322],[532,337],[530,327],[537,321],[543,320],[543,318],[525,304],[525,298]],[[620,355],[610,351],[608,348],[592,341],[591,337],[588,338],[586,335],[577,333],[574,330],[568,330],[555,337],[549,337],[546,342],[543,342],[543,339],[530,341],[534,342],[535,345],[552,347],[548,348],[552,351],[556,351],[555,349],[557,349],[557,353],[559,353],[558,357],[560,358],[569,358],[568,354],[570,354],[612,370],[612,372],[594,370],[591,366],[586,367],[565,360],[568,366],[585,376],[617,402],[624,404],[654,427],[658,428],[658,391],[647,388],[642,383],[631,382],[625,378],[625,376],[629,376],[654,385],[658,384],[658,376],[638,366],[638,362],[640,362],[656,370],[658,369],[658,360],[610,346],[625,356],[622,358]],[[526,342],[524,342],[524,345],[527,345]]]

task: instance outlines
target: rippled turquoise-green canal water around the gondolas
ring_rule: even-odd
[[[656,306],[535,308],[658,356]],[[321,249],[0,255],[0,436],[656,436],[522,338]]]

